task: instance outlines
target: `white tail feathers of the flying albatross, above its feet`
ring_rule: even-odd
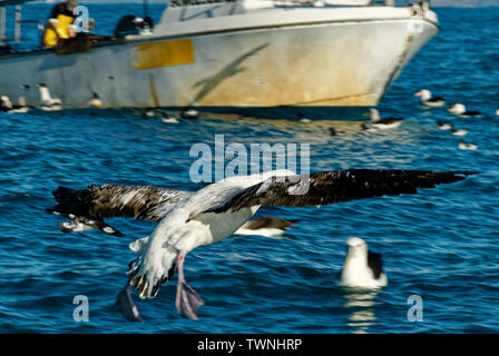
[[[178,251],[172,246],[162,248],[157,254],[146,254],[148,238],[143,238],[130,244],[130,249],[137,248],[140,255],[128,265],[130,285],[138,290],[141,299],[154,298],[158,294],[159,286],[168,283],[175,274]]]

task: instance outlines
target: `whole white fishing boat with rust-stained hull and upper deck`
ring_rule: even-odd
[[[355,118],[439,30],[428,2],[372,2],[169,0],[146,29],[2,51],[0,92],[37,105],[43,83],[63,109],[98,97],[101,108]]]

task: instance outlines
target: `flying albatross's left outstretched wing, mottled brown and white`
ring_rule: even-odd
[[[71,219],[71,222],[59,225],[63,233],[98,228],[106,234],[124,236],[104,222],[104,218],[125,217],[157,222],[190,194],[154,186],[92,185],[87,189],[59,187],[52,191],[58,204],[47,211]]]

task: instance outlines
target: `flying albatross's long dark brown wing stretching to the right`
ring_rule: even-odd
[[[476,172],[350,169],[272,177],[204,212],[237,211],[257,205],[319,206],[384,195],[417,194],[417,188],[434,188],[440,184],[462,180],[472,174]]]

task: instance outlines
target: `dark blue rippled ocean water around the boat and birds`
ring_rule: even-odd
[[[46,6],[25,18],[43,19]],[[30,6],[26,7],[27,9]],[[40,11],[41,8],[41,11]],[[157,7],[160,9],[162,7]],[[111,29],[116,6],[90,6]],[[139,13],[140,6],[119,7]],[[497,333],[499,332],[499,9],[438,9],[441,32],[412,60],[380,103],[405,118],[397,130],[362,132],[359,122],[233,120],[205,115],[167,125],[131,111],[0,113],[0,332],[2,333]],[[157,17],[156,17],[157,18]],[[106,31],[104,31],[106,32]],[[486,113],[454,118],[421,108],[413,93],[431,89]],[[477,151],[436,127],[453,121]],[[331,137],[334,126],[339,135]],[[186,277],[206,305],[199,320],[180,318],[175,284],[137,301],[145,323],[115,307],[135,258],[129,241],[153,222],[111,221],[128,237],[99,231],[65,235],[45,212],[59,185],[158,185],[195,190],[195,142],[311,145],[311,169],[353,167],[469,169],[481,174],[424,190],[315,208],[264,208],[258,216],[301,219],[286,238],[228,238],[186,259]],[[387,288],[349,293],[336,286],[358,236],[383,254]],[[89,322],[72,318],[74,297],[89,299]],[[423,301],[423,320],[408,320],[408,297]]]

